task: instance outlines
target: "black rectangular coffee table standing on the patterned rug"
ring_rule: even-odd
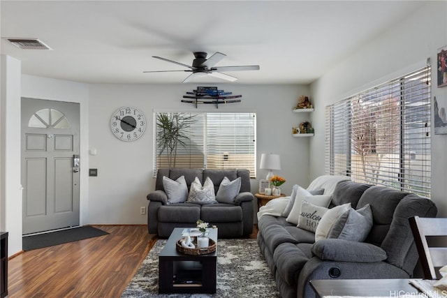
[[[175,248],[184,228],[175,228],[159,254],[159,293],[216,292],[217,248],[206,255],[186,255]],[[217,228],[208,229],[217,243]]]

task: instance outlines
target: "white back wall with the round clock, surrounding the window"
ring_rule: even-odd
[[[242,102],[219,105],[218,110],[214,105],[200,105],[196,110],[193,105],[180,100],[186,91],[192,91],[198,85],[89,86],[89,149],[97,151],[96,156],[90,156],[89,167],[98,168],[98,177],[89,178],[89,223],[147,223],[147,217],[140,215],[140,207],[147,206],[146,195],[154,190],[154,110],[256,112],[257,162],[262,153],[280,154],[282,169],[276,173],[288,179],[281,186],[283,191],[290,194],[295,183],[307,186],[309,140],[291,136],[292,126],[305,119],[291,109],[298,96],[308,95],[308,87],[217,84],[219,89],[242,94]],[[124,105],[140,108],[148,122],[147,131],[135,142],[122,142],[110,131],[112,113]],[[266,174],[265,170],[258,170],[257,179],[251,183],[252,192],[257,191],[259,179],[265,179]]]

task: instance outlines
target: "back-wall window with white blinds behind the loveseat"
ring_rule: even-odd
[[[154,175],[161,167],[198,167],[244,168],[256,177],[255,113],[155,112],[154,119]]]

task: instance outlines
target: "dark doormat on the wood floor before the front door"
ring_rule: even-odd
[[[103,230],[93,228],[89,225],[85,227],[73,228],[68,230],[61,230],[57,232],[49,232],[45,234],[38,234],[33,236],[23,237],[23,250],[31,251],[37,248],[54,246],[68,242],[88,239],[109,234]]]

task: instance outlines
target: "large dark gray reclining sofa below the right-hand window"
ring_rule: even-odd
[[[390,188],[339,181],[329,208],[347,202],[357,210],[366,204],[371,207],[372,228],[365,241],[315,241],[314,232],[297,228],[282,216],[259,218],[258,245],[281,297],[315,297],[309,285],[312,279],[413,276],[418,253],[408,218],[436,216],[435,204]]]

